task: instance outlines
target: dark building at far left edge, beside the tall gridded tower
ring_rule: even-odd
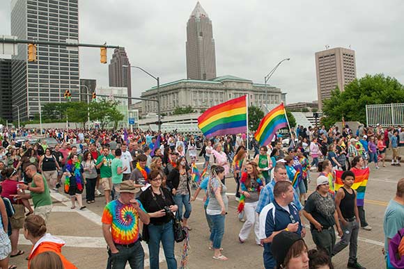
[[[13,121],[11,89],[11,60],[0,59],[0,117],[9,122]],[[17,108],[15,111],[17,113]]]

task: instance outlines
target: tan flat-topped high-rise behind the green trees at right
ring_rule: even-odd
[[[355,51],[334,48],[316,52],[318,109],[323,109],[324,99],[331,97],[338,86],[343,92],[345,85],[356,79]]]

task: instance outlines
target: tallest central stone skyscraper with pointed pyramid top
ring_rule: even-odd
[[[212,21],[198,2],[187,22],[187,79],[216,77],[215,40]]]

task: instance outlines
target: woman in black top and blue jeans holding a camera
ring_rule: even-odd
[[[163,245],[167,268],[176,269],[177,261],[174,256],[173,213],[178,210],[169,190],[162,186],[162,175],[158,170],[149,174],[150,188],[139,197],[144,209],[150,216],[150,223],[144,229],[148,230],[148,250],[150,253],[150,268],[159,268],[160,242]],[[146,227],[146,228],[145,228]]]

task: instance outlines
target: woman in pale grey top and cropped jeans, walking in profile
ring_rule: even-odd
[[[222,254],[222,239],[224,235],[224,220],[228,209],[228,199],[226,196],[226,186],[222,183],[224,176],[224,167],[212,165],[212,177],[208,179],[209,202],[206,207],[206,213],[211,221],[212,229],[210,231],[210,250],[214,250],[213,259],[218,261],[227,261],[228,258]]]

